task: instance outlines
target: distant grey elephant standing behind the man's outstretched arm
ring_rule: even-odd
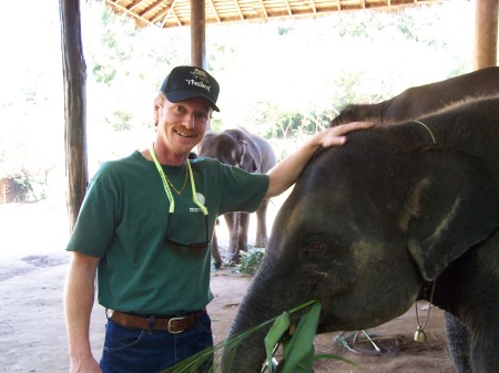
[[[200,156],[216,158],[220,162],[236,166],[249,173],[266,173],[276,164],[276,156],[272,145],[263,137],[252,134],[245,128],[226,129],[220,134],[207,133],[198,147]],[[256,210],[255,246],[267,246],[267,214],[268,199],[264,199]],[[224,215],[230,232],[230,261],[240,261],[240,251],[247,250],[247,230],[249,214],[232,213]],[[213,235],[213,250],[215,267],[220,268],[220,256],[216,236]]]

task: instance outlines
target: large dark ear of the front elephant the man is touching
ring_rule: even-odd
[[[499,182],[485,162],[430,149],[409,197],[407,246],[427,281],[499,226]]]

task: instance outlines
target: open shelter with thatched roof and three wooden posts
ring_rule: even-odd
[[[67,204],[74,226],[88,184],[85,139],[86,66],[81,43],[80,0],[59,0],[64,75]],[[205,68],[205,25],[265,22],[269,19],[309,18],[337,11],[395,10],[441,3],[442,0],[105,0],[138,27],[191,28],[191,63]],[[496,65],[499,0],[476,0],[476,70]],[[470,51],[471,53],[471,51]]]

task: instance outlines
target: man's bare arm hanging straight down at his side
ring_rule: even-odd
[[[64,315],[71,372],[101,373],[90,348],[90,314],[99,258],[72,252],[64,288]]]

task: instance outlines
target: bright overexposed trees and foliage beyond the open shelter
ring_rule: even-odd
[[[33,11],[31,29],[54,34],[6,23],[10,33],[23,32],[26,41],[18,43],[31,46],[29,55],[11,64],[7,60],[0,72],[2,80],[11,81],[0,93],[0,173],[21,175],[24,169],[35,177],[53,169],[63,177],[57,3],[51,10],[29,1],[40,8]],[[149,144],[159,85],[174,65],[189,64],[191,54],[189,28],[136,29],[133,20],[104,4],[81,3],[90,175],[101,162]],[[244,126],[269,138],[285,155],[346,104],[379,102],[408,86],[469,72],[473,12],[468,1],[449,1],[397,12],[344,11],[257,25],[208,24],[207,69],[222,86],[222,111],[215,113],[212,128]],[[22,72],[14,73],[17,68]]]

